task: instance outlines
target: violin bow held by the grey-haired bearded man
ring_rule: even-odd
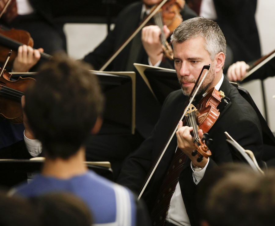
[[[198,87],[196,88],[196,86],[197,86],[197,84],[198,84],[198,82],[199,82],[199,80],[200,80],[201,74],[203,73],[204,69],[207,69],[207,71],[206,71],[206,73],[204,74],[204,76],[202,77],[202,80],[200,81],[200,84],[199,84]],[[196,83],[195,83],[195,85],[194,85],[194,87],[193,87],[193,89],[192,89],[192,91],[191,91],[191,93],[190,93],[190,95],[189,95],[189,97],[188,97],[186,103],[185,103],[185,106],[184,106],[184,108],[183,108],[183,109],[184,109],[184,112],[182,113],[182,115],[181,115],[181,117],[180,117],[180,119],[179,119],[178,121],[182,120],[183,117],[185,116],[185,114],[186,114],[186,112],[187,112],[187,110],[188,110],[188,107],[187,107],[187,106],[190,106],[190,104],[193,102],[193,100],[194,100],[194,98],[195,98],[195,96],[196,96],[198,90],[200,89],[201,84],[202,84],[203,81],[204,81],[204,78],[205,78],[206,75],[208,74],[209,69],[210,69],[210,64],[209,64],[209,65],[204,65],[204,66],[203,66],[203,68],[202,68],[202,70],[201,70],[201,72],[200,72],[200,75],[199,75],[199,77],[198,77],[198,79],[197,79],[197,81],[196,81]],[[196,89],[196,91],[194,91],[195,89]],[[142,196],[143,192],[145,191],[145,189],[146,189],[146,187],[147,187],[147,185],[148,185],[150,179],[152,178],[154,172],[156,171],[156,168],[157,168],[157,166],[159,165],[160,160],[162,159],[162,156],[163,156],[164,153],[166,152],[166,149],[167,149],[168,145],[170,144],[172,138],[174,137],[174,134],[176,133],[177,129],[178,129],[178,127],[177,127],[177,125],[175,125],[174,131],[171,133],[171,135],[170,135],[170,137],[169,137],[169,140],[166,142],[166,145],[165,145],[163,151],[162,151],[162,152],[160,153],[160,155],[158,156],[157,161],[156,161],[156,163],[154,164],[154,167],[153,167],[152,170],[150,171],[149,177],[147,178],[145,184],[142,186],[142,189],[141,189],[140,193],[138,194],[138,200],[141,198],[141,196]]]

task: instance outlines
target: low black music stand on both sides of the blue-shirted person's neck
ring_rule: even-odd
[[[10,188],[40,173],[44,160],[0,159],[0,186]],[[97,174],[113,181],[111,164],[85,162]]]

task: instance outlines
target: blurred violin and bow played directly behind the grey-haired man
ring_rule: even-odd
[[[171,2],[171,3],[173,3],[173,4],[170,4],[170,5],[165,5],[165,3],[166,2]],[[181,3],[178,3],[178,2],[181,2]],[[140,23],[140,25],[138,26],[138,28],[136,29],[136,30],[134,30],[134,32],[130,35],[130,37],[129,38],[127,38],[127,40],[126,41],[124,41],[123,42],[123,44],[114,52],[114,54],[107,60],[107,62],[99,69],[100,71],[103,71],[103,70],[105,70],[105,68],[113,61],[113,59],[115,59],[116,58],[116,56],[125,48],[125,46],[126,45],[128,45],[129,44],[129,42],[138,34],[138,32],[144,27],[144,26],[146,26],[146,24],[148,24],[148,22],[149,22],[149,20],[157,13],[157,12],[159,12],[159,10],[162,10],[162,11],[164,11],[164,12],[167,12],[167,9],[170,9],[170,10],[174,10],[176,7],[175,6],[177,6],[177,5],[182,5],[182,7],[183,7],[183,5],[184,5],[184,3],[185,3],[185,1],[184,0],[163,0],[162,2],[160,2],[160,4],[159,5],[156,5],[152,10],[151,10],[151,13]],[[165,6],[164,6],[165,5]],[[173,6],[173,7],[172,7]],[[164,7],[163,9],[162,9],[162,7]],[[178,7],[178,9],[179,8],[181,8],[181,7]],[[169,12],[169,11],[168,11]],[[174,23],[174,21],[177,21],[177,23],[178,23],[178,25],[179,25],[179,21],[180,20],[178,20],[179,18],[178,18],[178,14],[176,14],[176,13],[174,13],[174,12],[169,12],[169,13],[164,13],[163,15],[166,15],[166,18],[167,19],[165,19],[165,21],[166,21],[166,23],[165,24],[168,24],[169,25],[169,23],[168,23],[168,19],[170,18],[172,18],[173,20],[172,20],[172,23],[170,22],[170,25],[169,25],[169,27],[170,27],[170,31],[171,32],[173,32],[174,31],[174,29],[172,30],[172,27],[174,27],[175,26],[175,24],[176,23]],[[179,14],[180,15],[180,14]],[[161,17],[161,20],[160,20],[161,22],[157,22],[157,23],[162,23],[162,17]],[[178,26],[177,25],[177,26]],[[176,27],[177,27],[176,26]],[[169,45],[168,45],[168,43],[167,43],[167,41],[166,41],[166,38],[165,38],[165,35],[164,35],[164,32],[163,32],[163,23],[162,23],[162,26],[161,25],[159,25],[159,27],[161,27],[161,30],[162,30],[162,34],[161,34],[161,43],[162,43],[162,46],[163,46],[163,49],[167,49],[167,51],[165,51],[164,50],[164,53],[165,52],[167,52],[167,55],[170,57],[170,59],[171,59],[171,53],[173,52],[172,51],[172,48],[171,48],[171,46],[169,47]],[[175,28],[176,28],[175,27]],[[165,40],[165,41],[164,41]],[[165,46],[164,46],[165,45]],[[171,52],[172,51],[172,52]],[[173,59],[173,57],[172,57],[172,59]]]

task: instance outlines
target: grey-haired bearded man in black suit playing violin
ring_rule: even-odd
[[[172,138],[141,198],[147,203],[149,211],[157,205],[156,197],[178,146],[187,157],[178,175],[179,180],[170,204],[168,202],[167,215],[162,219],[166,219],[165,225],[194,226],[199,225],[195,204],[197,186],[211,168],[233,161],[224,132],[227,131],[244,149],[251,150],[259,165],[262,165],[262,130],[255,110],[223,74],[226,40],[216,22],[201,17],[183,21],[174,30],[171,41],[174,66],[182,89],[172,92],[167,97],[159,121],[150,137],[128,157],[117,182],[138,192],[173,127],[178,124],[176,135]],[[213,139],[213,143],[208,144],[212,155],[209,158],[204,157],[199,162],[198,156],[192,155],[196,149],[191,136],[194,128],[183,125],[178,119],[200,71],[204,65],[209,64],[210,70],[200,87],[200,94],[195,97],[196,101],[201,99],[199,96],[204,96],[215,87],[216,90],[224,92],[226,102],[222,100],[224,104],[218,105],[220,115],[208,131]],[[199,135],[202,138],[201,130]],[[161,199],[157,201],[162,203]]]

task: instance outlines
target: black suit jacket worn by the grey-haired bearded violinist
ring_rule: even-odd
[[[225,131],[244,149],[250,149],[255,154],[257,161],[261,163],[262,131],[254,109],[240,96],[237,89],[226,78],[224,78],[220,90],[224,91],[225,95],[230,98],[230,103],[208,132],[214,142],[209,145],[212,155],[206,172],[217,164],[233,161],[229,147],[226,144]],[[142,143],[141,147],[129,156],[121,170],[118,183],[128,186],[135,192],[139,191],[152,163],[162,150],[165,141],[173,131],[173,127],[178,123],[186,99],[187,97],[182,94],[181,90],[174,91],[167,97],[155,129],[150,137]],[[177,140],[174,136],[142,196],[149,210],[152,209],[155,202],[162,178],[173,159],[176,146]],[[190,159],[186,160],[179,182],[191,225],[197,225],[198,222],[196,222],[195,216],[196,185],[193,182]]]

